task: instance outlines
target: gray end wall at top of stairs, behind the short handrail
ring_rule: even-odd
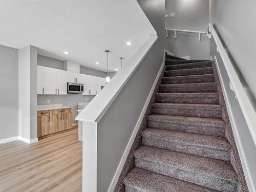
[[[173,12],[175,17],[170,18],[169,14]],[[165,18],[166,28],[206,31],[209,23],[209,1],[166,0],[165,14],[168,15]],[[199,41],[198,34],[177,32],[175,39],[174,33],[169,32],[165,49],[179,57],[209,59],[209,39],[206,35],[202,35]]]

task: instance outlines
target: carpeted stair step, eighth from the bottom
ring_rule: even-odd
[[[214,74],[163,77],[162,84],[215,82]]]

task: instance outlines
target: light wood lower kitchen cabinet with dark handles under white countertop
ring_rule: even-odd
[[[37,137],[69,130],[72,128],[71,108],[37,112]]]

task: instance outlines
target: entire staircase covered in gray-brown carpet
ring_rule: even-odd
[[[126,192],[237,191],[212,63],[166,55]]]

